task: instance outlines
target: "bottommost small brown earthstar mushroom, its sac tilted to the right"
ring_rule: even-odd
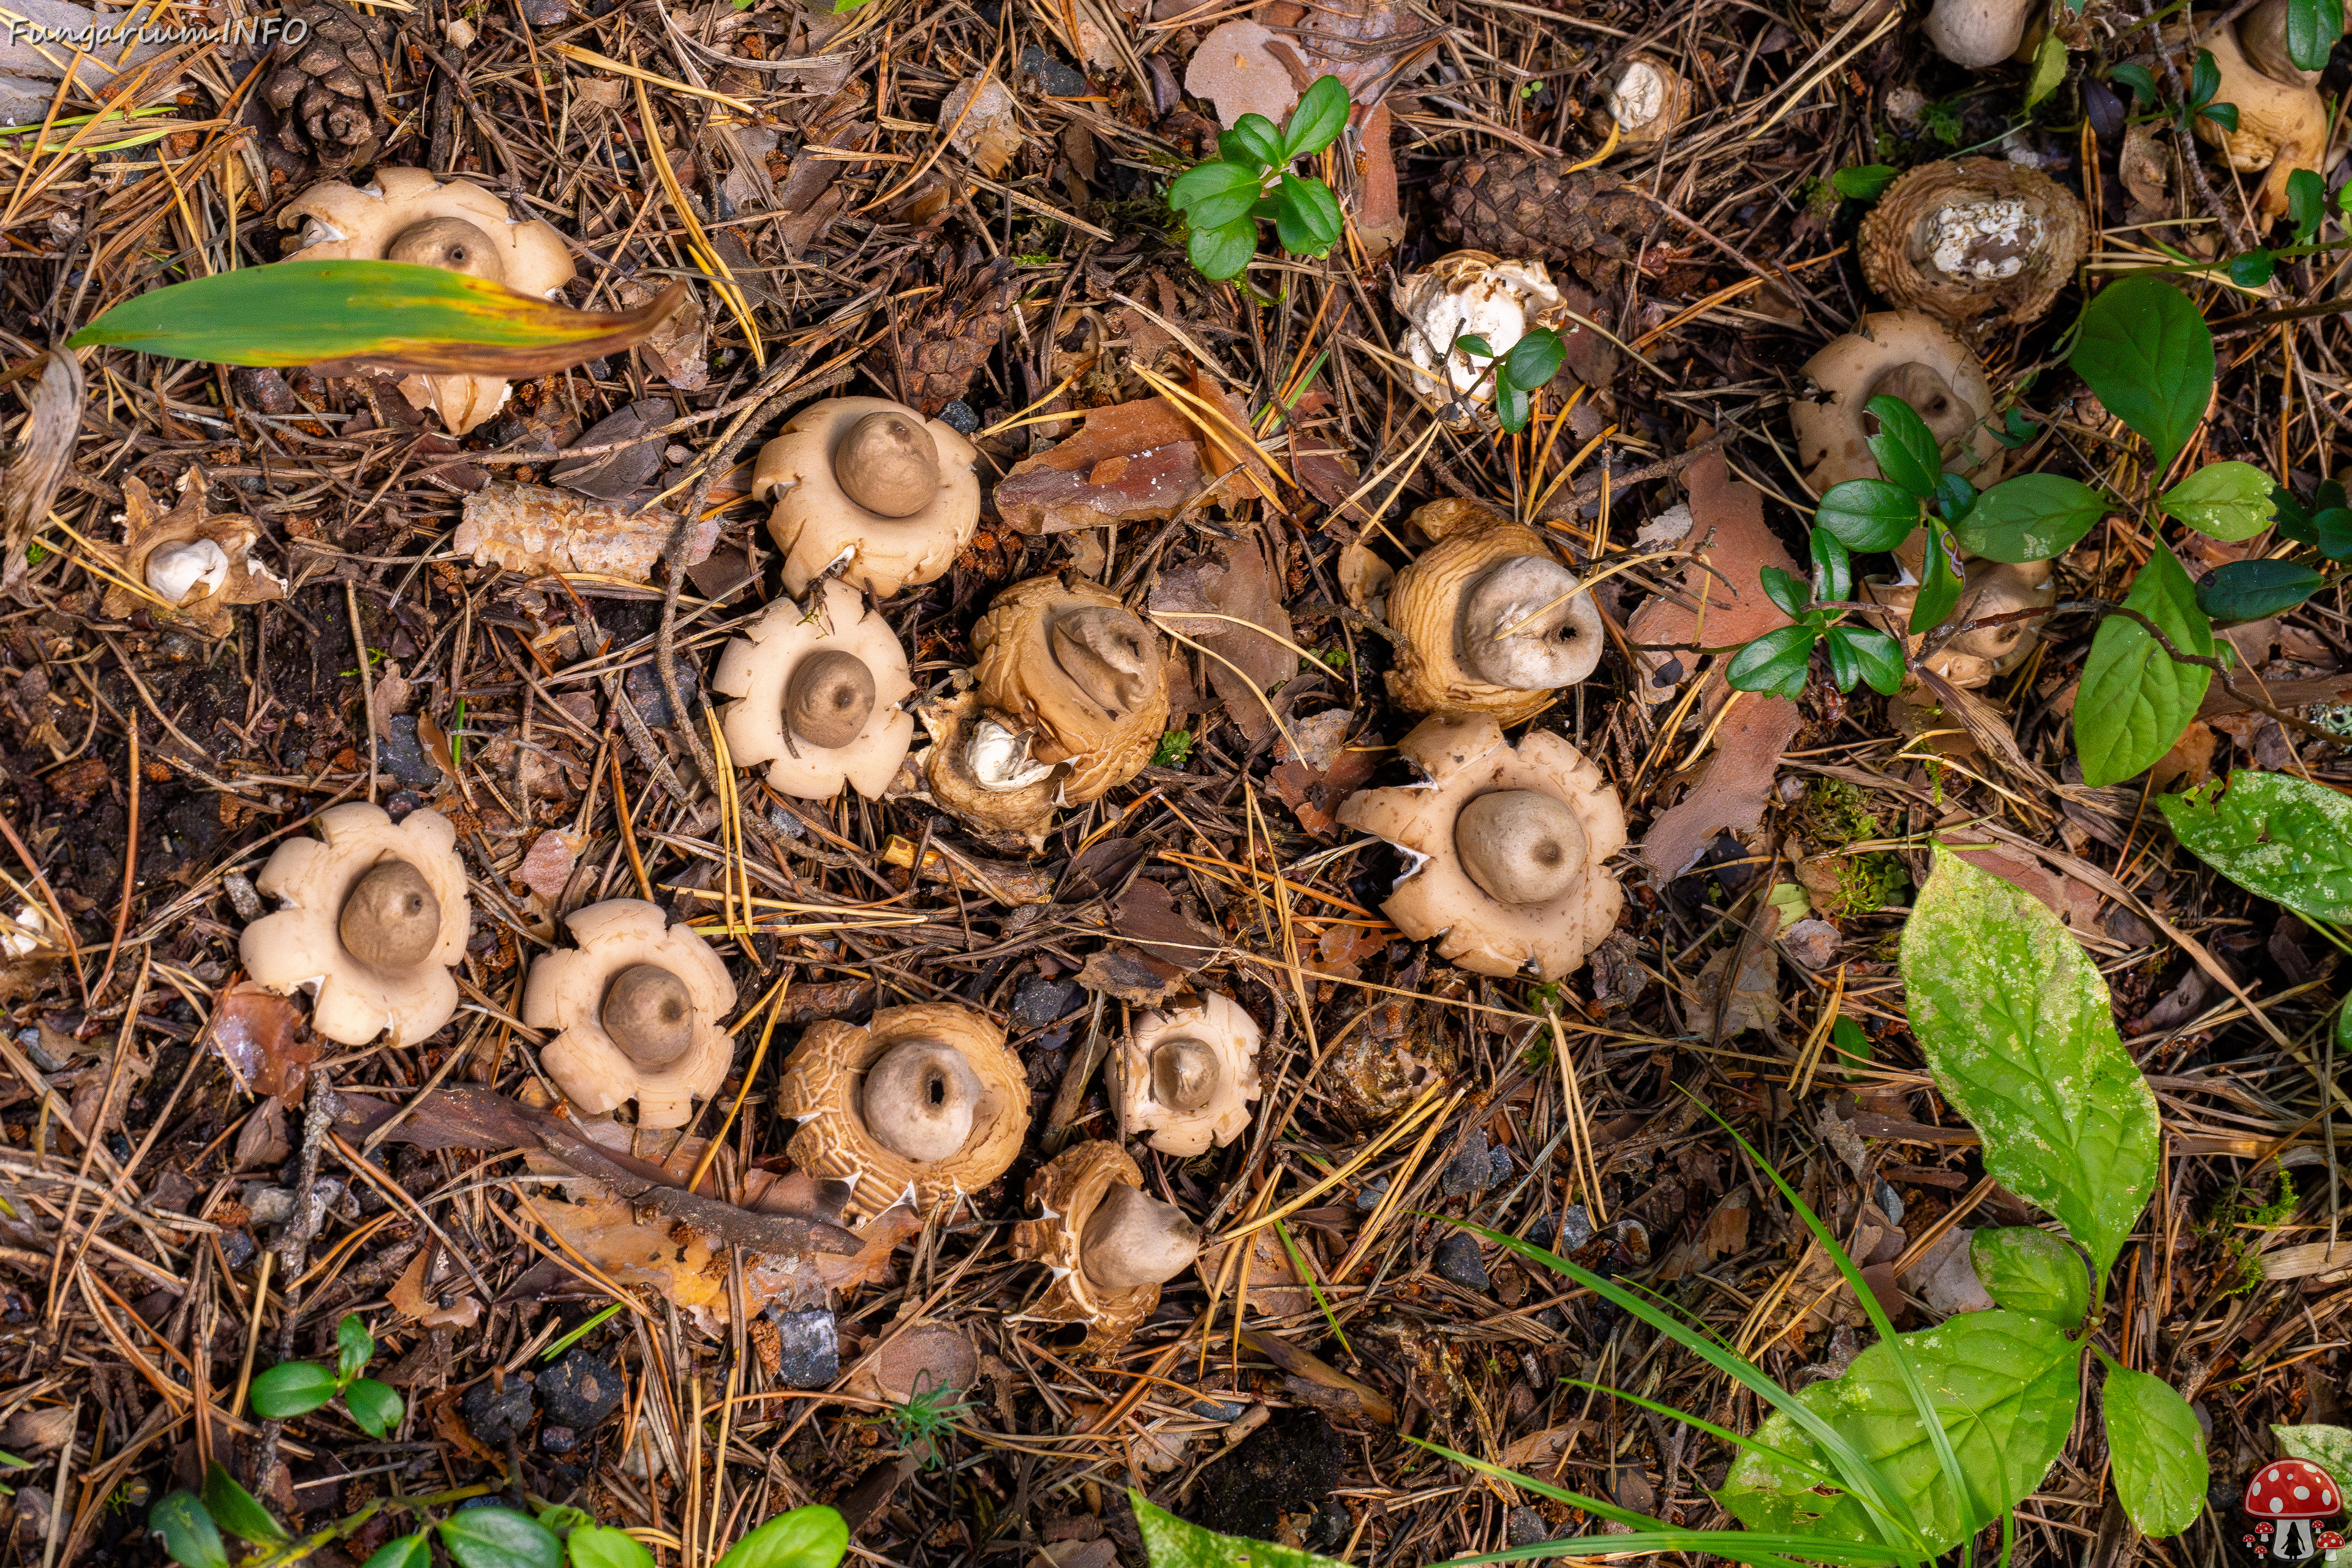
[[[1080,1143],[1028,1185],[1035,1218],[1014,1225],[1014,1258],[1051,1272],[1023,1316],[1082,1324],[1089,1354],[1124,1345],[1160,1305],[1160,1286],[1200,1258],[1200,1227],[1143,1192],[1143,1171],[1108,1140]]]

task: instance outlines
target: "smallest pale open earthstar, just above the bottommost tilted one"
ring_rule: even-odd
[[[1225,1147],[1258,1098],[1258,1023],[1223,992],[1141,1013],[1110,1058],[1110,1093],[1127,1133],[1162,1154]]]

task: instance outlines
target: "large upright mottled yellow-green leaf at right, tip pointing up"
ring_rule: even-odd
[[[2065,1220],[2105,1279],[2157,1185],[2157,1098],[2098,969],[2039,898],[1938,844],[1903,924],[1903,992],[1985,1173]]]

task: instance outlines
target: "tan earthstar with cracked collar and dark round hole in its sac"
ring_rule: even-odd
[[[985,1013],[887,1006],[873,1023],[811,1023],[783,1065],[786,1152],[849,1185],[851,1215],[908,1199],[953,1204],[1004,1175],[1028,1135],[1028,1074]]]

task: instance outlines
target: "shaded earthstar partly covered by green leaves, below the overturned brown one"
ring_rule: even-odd
[[[1978,489],[2002,477],[2006,456],[1992,428],[1992,383],[1976,355],[1922,310],[1872,310],[1804,362],[1818,400],[1788,404],[1797,468],[1818,496],[1846,480],[1879,480],[1870,456],[1872,397],[1900,397],[1943,444],[1943,465]]]

